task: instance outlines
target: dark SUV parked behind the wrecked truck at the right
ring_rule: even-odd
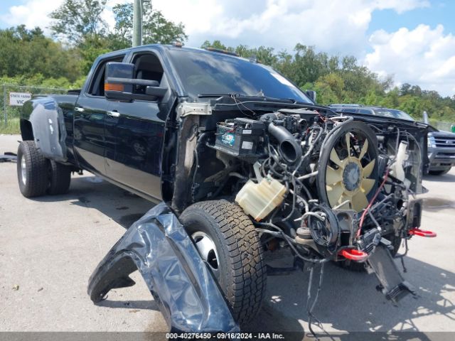
[[[414,119],[402,110],[390,109],[385,107],[370,107],[360,104],[331,104],[336,112],[356,113],[365,115],[378,115],[395,119],[405,119],[414,121]],[[428,123],[428,117],[424,122]],[[429,168],[427,172],[432,175],[443,175],[448,173],[455,166],[455,134],[449,131],[439,131],[433,128],[428,133],[428,158]]]

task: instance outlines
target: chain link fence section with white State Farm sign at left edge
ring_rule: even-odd
[[[0,134],[19,134],[22,102],[36,94],[65,94],[67,89],[0,85]]]

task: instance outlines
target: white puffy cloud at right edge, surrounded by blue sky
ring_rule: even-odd
[[[369,41],[373,52],[366,55],[365,65],[370,70],[395,75],[398,84],[417,84],[447,96],[455,93],[455,36],[444,34],[442,25],[380,30]]]

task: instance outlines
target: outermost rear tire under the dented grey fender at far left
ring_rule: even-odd
[[[44,195],[49,185],[49,161],[35,141],[22,141],[17,151],[17,177],[19,189],[24,197]]]

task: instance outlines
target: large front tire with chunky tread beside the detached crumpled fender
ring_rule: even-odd
[[[180,221],[196,247],[203,235],[213,242],[216,262],[210,252],[204,259],[199,248],[198,251],[217,279],[233,317],[245,325],[259,311],[267,282],[255,226],[239,206],[228,200],[191,205],[183,211]]]

